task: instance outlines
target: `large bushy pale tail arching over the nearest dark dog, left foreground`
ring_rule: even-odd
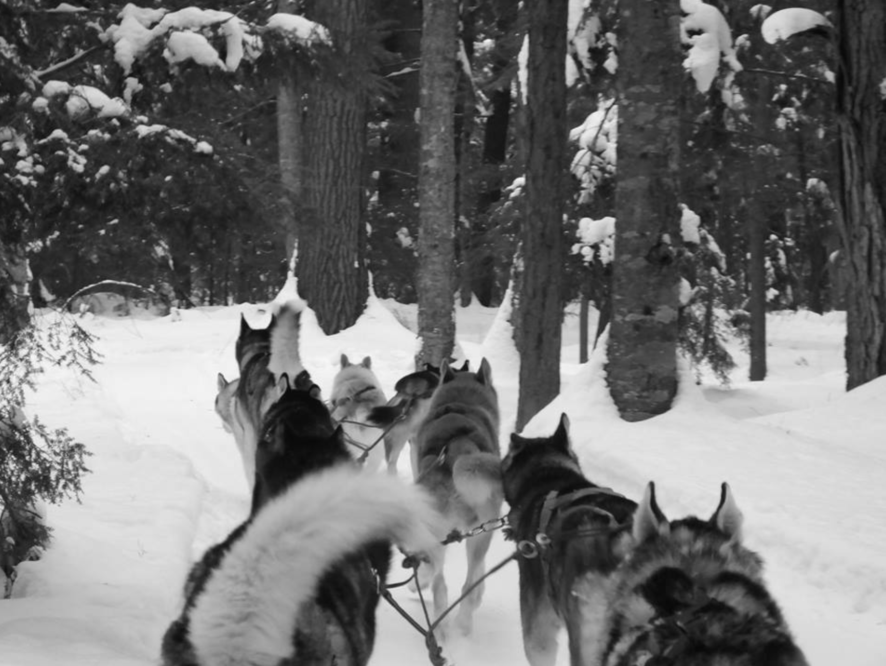
[[[255,516],[191,608],[198,662],[282,662],[301,606],[330,564],[377,540],[426,552],[439,541],[439,521],[417,486],[351,465],[292,485]]]

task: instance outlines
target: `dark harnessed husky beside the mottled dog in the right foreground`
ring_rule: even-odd
[[[532,666],[554,666],[565,625],[571,666],[586,666],[581,616],[573,586],[582,577],[610,577],[630,546],[636,502],[588,481],[569,440],[569,417],[553,435],[510,436],[501,462],[510,507],[509,538],[517,541],[523,647]]]

